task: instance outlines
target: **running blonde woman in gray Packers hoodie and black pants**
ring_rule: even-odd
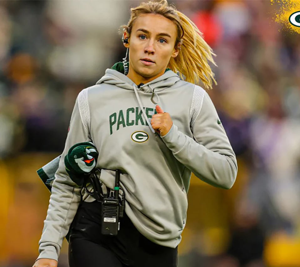
[[[235,153],[209,95],[195,85],[216,83],[214,53],[197,27],[163,0],[131,8],[122,29],[129,64],[106,69],[76,99],[34,267],[57,266],[69,229],[71,267],[177,266],[191,172],[215,187],[235,182]],[[81,199],[65,169],[70,147],[87,141],[99,151],[106,186],[121,170],[125,214],[115,236],[101,234],[101,203],[86,192]]]

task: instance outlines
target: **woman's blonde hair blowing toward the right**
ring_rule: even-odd
[[[188,82],[198,83],[201,80],[207,89],[212,89],[212,80],[215,74],[212,72],[208,62],[215,66],[213,53],[210,46],[204,41],[203,33],[197,26],[183,13],[179,12],[173,4],[168,4],[167,0],[160,2],[149,1],[141,3],[136,8],[131,8],[131,16],[127,25],[122,25],[122,32],[131,34],[133,22],[141,14],[154,13],[163,15],[170,19],[177,26],[177,38],[175,47],[179,50],[177,57],[171,57],[168,68],[174,72],[179,72],[179,76]]]

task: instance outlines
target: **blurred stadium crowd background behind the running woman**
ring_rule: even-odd
[[[300,34],[280,1],[168,1],[217,54],[208,93],[238,160],[230,190],[192,176],[179,267],[300,266]],[[77,94],[125,48],[140,1],[0,1],[0,266],[30,267]],[[59,266],[68,266],[64,241]]]

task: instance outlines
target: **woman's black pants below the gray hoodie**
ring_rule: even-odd
[[[126,214],[116,236],[101,234],[101,203],[81,202],[70,229],[70,267],[176,267],[175,249],[151,242]]]

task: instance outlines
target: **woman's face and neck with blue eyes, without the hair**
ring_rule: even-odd
[[[127,33],[124,35],[128,37]],[[145,79],[162,75],[171,57],[178,55],[174,48],[176,25],[158,14],[142,14],[132,25],[129,44],[128,76],[140,75]]]

